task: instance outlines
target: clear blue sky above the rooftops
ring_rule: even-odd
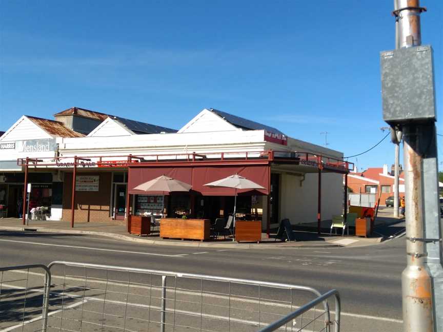
[[[421,5],[441,118],[443,2]],[[392,6],[0,0],[0,130],[73,106],[178,129],[212,107],[320,145],[327,131],[329,148],[354,155],[385,135],[379,52],[394,48]],[[350,161],[381,167],[393,152],[387,138]]]

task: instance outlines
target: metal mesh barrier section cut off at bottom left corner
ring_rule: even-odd
[[[51,273],[45,265],[0,267],[0,331],[45,332],[50,284]]]

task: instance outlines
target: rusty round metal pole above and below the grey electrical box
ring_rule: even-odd
[[[421,44],[418,0],[394,0],[396,48]],[[408,123],[404,138],[407,267],[401,274],[402,307],[405,332],[436,331],[433,322],[432,282],[426,266],[424,241],[424,186],[422,124]]]

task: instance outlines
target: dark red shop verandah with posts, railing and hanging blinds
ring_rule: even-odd
[[[77,174],[93,174],[103,171],[128,171],[126,184],[121,183],[117,194],[120,209],[124,217],[135,215],[158,215],[161,217],[226,218],[233,212],[235,192],[228,188],[208,188],[204,184],[232,174],[239,174],[259,183],[264,190],[238,191],[238,219],[261,220],[262,229],[269,235],[272,224],[278,224],[279,203],[281,196],[281,177],[293,174],[304,178],[307,174],[318,176],[317,220],[321,220],[321,176],[325,173],[347,174],[353,167],[352,163],[334,158],[313,155],[302,152],[225,152],[206,154],[166,154],[166,155],[126,155],[126,156],[62,156],[56,160],[19,159],[19,164],[25,168],[59,168],[72,170],[70,176],[72,190],[69,205],[71,226],[74,224],[78,202],[76,198],[75,178]],[[192,185],[189,193],[172,193],[166,196],[158,193],[143,193],[134,191],[136,185],[159,175],[167,175]],[[26,175],[25,175],[26,179]],[[65,183],[66,185],[66,183]],[[26,188],[26,184],[25,184]],[[129,190],[128,190],[129,188]],[[343,188],[343,187],[340,187]],[[122,206],[123,195],[126,200]],[[114,193],[115,195],[115,193]],[[114,196],[115,197],[115,196]],[[345,197],[345,195],[343,196]],[[94,197],[91,196],[94,200]],[[107,197],[109,200],[110,197]],[[162,206],[160,206],[162,202]],[[346,205],[346,199],[343,199]],[[69,202],[68,202],[69,203]],[[93,202],[90,202],[93,204]],[[294,202],[297,204],[297,202]],[[24,204],[25,205],[25,204]],[[66,205],[64,205],[66,206]],[[128,209],[129,207],[129,209]],[[165,207],[162,211],[162,207]],[[300,207],[303,208],[303,207]],[[345,209],[346,213],[346,209]],[[25,218],[23,218],[25,221]],[[319,224],[319,223],[318,223]]]

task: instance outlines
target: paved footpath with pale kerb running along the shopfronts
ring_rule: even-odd
[[[107,237],[114,240],[129,241],[145,244],[168,245],[168,246],[188,246],[188,247],[212,247],[212,248],[254,248],[271,249],[281,247],[306,248],[306,247],[357,247],[374,245],[402,235],[404,230],[404,220],[394,219],[389,216],[380,216],[377,219],[374,228],[374,236],[363,238],[352,236],[353,230],[349,236],[329,235],[330,221],[324,221],[321,224],[322,233],[317,235],[312,229],[312,224],[301,224],[295,226],[296,241],[284,242],[275,241],[275,232],[271,232],[271,237],[262,234],[260,243],[237,243],[232,239],[220,237],[217,240],[210,241],[192,241],[192,240],[173,240],[162,239],[158,233],[149,236],[136,236],[126,232],[126,225],[123,223],[112,222],[77,222],[71,228],[69,222],[49,221],[49,220],[30,220],[29,225],[23,225],[21,219],[4,218],[0,219],[0,231],[15,232],[45,232],[45,233],[63,233],[63,234],[84,234],[100,237]]]

